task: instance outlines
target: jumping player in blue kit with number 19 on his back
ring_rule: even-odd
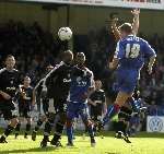
[[[149,59],[148,72],[151,74],[156,57],[148,42],[132,35],[131,24],[125,23],[119,29],[121,39],[117,43],[113,62],[109,63],[110,69],[117,69],[119,92],[115,104],[103,119],[104,125],[118,114],[120,107],[132,96],[145,58]]]

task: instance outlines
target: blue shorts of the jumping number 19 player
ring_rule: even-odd
[[[139,80],[140,72],[138,70],[118,70],[117,73],[117,86],[119,92],[131,94]]]

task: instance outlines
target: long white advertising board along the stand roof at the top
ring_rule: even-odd
[[[22,0],[22,1],[164,10],[163,0]]]

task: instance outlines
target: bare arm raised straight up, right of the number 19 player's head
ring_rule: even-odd
[[[133,9],[131,13],[133,15],[132,32],[137,35],[140,26],[140,9]]]

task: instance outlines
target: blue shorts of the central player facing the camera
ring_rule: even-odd
[[[67,117],[73,119],[79,118],[79,116],[81,116],[82,120],[87,120],[90,118],[87,104],[69,102]]]

